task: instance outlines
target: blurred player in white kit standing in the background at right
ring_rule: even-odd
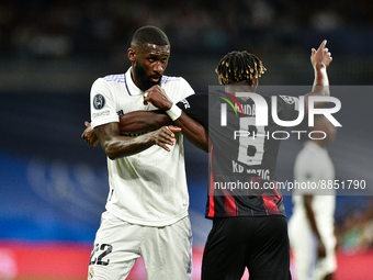
[[[304,144],[296,157],[296,182],[328,182],[335,179],[334,164],[326,145],[332,142],[336,127],[324,116],[315,117],[313,131],[325,132]],[[294,190],[293,215],[289,222],[290,243],[297,280],[332,280],[337,269],[335,236],[335,190],[306,188]]]

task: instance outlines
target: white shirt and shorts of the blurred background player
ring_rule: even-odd
[[[293,251],[294,277],[297,279],[324,279],[337,269],[334,214],[336,190],[328,189],[335,179],[335,168],[326,148],[308,141],[296,157],[296,182],[312,182],[319,189],[305,188],[293,192],[293,214],[289,220],[289,238]],[[326,188],[325,188],[325,187]],[[324,188],[324,189],[323,189]],[[302,195],[297,195],[302,194]],[[317,242],[306,214],[303,195],[314,195],[312,209],[317,229],[326,248],[326,257],[317,259]]]

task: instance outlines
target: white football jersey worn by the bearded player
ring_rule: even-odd
[[[181,77],[163,76],[160,87],[172,102],[193,94],[191,86]],[[124,75],[97,79],[91,89],[91,125],[118,122],[118,115],[155,110],[144,105],[144,92]],[[108,158],[110,191],[106,210],[128,223],[165,226],[188,215],[183,139],[180,132],[167,152],[158,145],[115,160]]]

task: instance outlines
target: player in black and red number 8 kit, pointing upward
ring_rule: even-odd
[[[329,85],[326,68],[331,56],[325,45],[326,41],[317,51],[312,49],[315,81],[313,91],[305,96],[305,112],[309,96],[329,94],[328,87],[317,87]],[[194,94],[180,101],[177,107],[182,112],[178,112],[178,108],[157,86],[147,90],[144,98],[145,103],[151,102],[161,111],[173,110],[179,115],[173,123],[182,128],[184,136],[200,148],[210,150],[210,187],[205,216],[213,220],[213,228],[203,254],[202,280],[241,279],[245,268],[248,268],[250,279],[253,280],[291,279],[287,221],[282,195],[275,188],[262,188],[265,182],[275,186],[280,145],[279,139],[265,135],[283,127],[273,122],[271,114],[268,115],[269,125],[256,126],[252,99],[235,97],[236,92],[255,92],[258,78],[264,70],[261,60],[255,55],[231,52],[216,68],[219,82],[225,86],[223,90]],[[268,108],[271,108],[271,98],[264,99]],[[221,105],[227,103],[227,100],[236,103],[239,115],[227,105],[227,124],[222,126]],[[297,117],[297,98],[279,96],[276,105],[280,120]],[[240,108],[246,110],[238,110]],[[145,119],[152,120],[151,124],[147,121],[148,128],[171,124],[165,114],[155,114],[151,119],[139,117],[140,112],[131,114],[121,119],[121,124],[126,123],[128,130],[134,130]],[[210,141],[201,127],[208,132]],[[250,132],[250,136],[235,139],[235,131]],[[253,132],[257,137],[251,136]],[[227,188],[233,182],[255,183],[259,188]]]

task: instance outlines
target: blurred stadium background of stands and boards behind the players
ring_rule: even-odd
[[[216,85],[227,52],[257,54],[268,71],[261,85],[313,82],[312,47],[332,52],[332,94],[343,127],[329,147],[337,179],[365,180],[372,189],[373,2],[263,1],[0,1],[0,279],[87,279],[108,192],[105,156],[80,135],[90,120],[92,82],[124,72],[131,37],[142,25],[161,27],[171,42],[167,75],[197,92]],[[279,180],[292,180],[301,145],[284,141]],[[206,155],[185,144],[194,272],[210,221]],[[363,195],[362,195],[363,194]],[[369,193],[368,193],[369,194]],[[287,215],[291,197],[284,197]],[[355,192],[337,199],[337,280],[372,279],[373,200]],[[145,279],[138,261],[131,279]]]

